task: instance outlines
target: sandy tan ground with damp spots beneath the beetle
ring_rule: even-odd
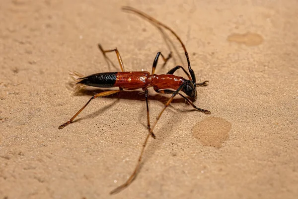
[[[177,31],[197,79],[210,81],[195,104],[212,114],[177,97],[135,182],[110,197],[146,137],[144,95],[94,100],[73,124],[58,126],[92,95],[74,94],[68,71],[119,71],[97,43],[117,46],[127,71],[150,70],[157,51],[169,52],[160,32],[122,5]],[[296,0],[2,0],[0,199],[296,199],[297,7]],[[174,65],[160,63],[156,72]],[[153,121],[166,96],[150,94]]]

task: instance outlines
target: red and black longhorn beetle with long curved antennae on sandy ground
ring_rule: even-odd
[[[123,65],[120,53],[117,50],[117,48],[115,48],[113,50],[104,50],[102,48],[102,46],[100,44],[98,44],[98,47],[102,51],[105,58],[106,58],[105,53],[115,51],[120,68],[121,68],[121,72],[107,72],[107,73],[97,73],[97,74],[89,75],[87,77],[78,78],[77,80],[79,82],[77,82],[77,84],[87,85],[87,86],[91,86],[91,87],[99,87],[99,88],[118,87],[119,90],[105,91],[105,92],[98,93],[98,94],[92,96],[91,99],[79,111],[77,111],[69,121],[67,121],[64,124],[62,124],[61,126],[59,126],[59,129],[62,129],[65,126],[67,126],[68,124],[72,123],[74,118],[88,105],[88,103],[91,100],[93,100],[95,98],[109,96],[109,95],[121,92],[123,90],[143,89],[143,91],[145,92],[146,105],[147,105],[147,121],[148,121],[149,133],[148,133],[148,135],[145,139],[145,142],[143,144],[143,148],[141,150],[141,154],[140,154],[140,157],[139,157],[139,160],[138,160],[138,163],[136,165],[134,172],[132,173],[130,178],[124,184],[122,184],[121,186],[119,186],[116,189],[114,189],[113,191],[111,191],[110,194],[115,194],[115,193],[122,191],[124,188],[129,186],[133,182],[133,180],[136,178],[137,173],[140,169],[140,164],[142,161],[143,153],[144,153],[145,147],[147,145],[148,139],[149,139],[150,135],[153,138],[155,138],[153,129],[154,129],[158,119],[160,118],[161,114],[166,109],[166,107],[168,107],[168,105],[171,103],[171,101],[173,100],[173,98],[175,96],[177,96],[177,95],[181,96],[189,104],[191,104],[196,110],[204,112],[206,114],[210,114],[209,110],[199,108],[192,102],[197,99],[197,86],[205,87],[208,85],[208,81],[205,81],[202,83],[196,83],[195,73],[191,69],[187,50],[186,50],[185,45],[183,44],[182,40],[180,39],[180,37],[171,28],[169,28],[168,26],[164,25],[163,23],[157,21],[156,19],[152,18],[151,16],[147,15],[146,13],[144,13],[140,10],[137,10],[137,9],[135,9],[133,7],[129,7],[129,6],[124,6],[124,7],[122,7],[122,9],[125,11],[135,13],[135,14],[149,20],[151,23],[155,24],[158,28],[163,27],[163,28],[167,29],[168,31],[170,31],[176,37],[176,39],[179,41],[179,43],[181,44],[181,46],[184,50],[189,73],[182,66],[178,65],[178,66],[175,66],[174,68],[172,68],[171,70],[169,70],[165,75],[154,74],[159,56],[161,56],[162,59],[164,60],[164,64],[171,57],[171,53],[168,55],[168,57],[164,57],[161,54],[161,52],[157,53],[157,55],[153,61],[151,74],[146,71],[126,72],[124,70],[124,65]],[[188,80],[184,79],[183,77],[173,75],[178,69],[183,70],[183,72],[187,75]],[[164,108],[158,114],[158,116],[152,126],[150,126],[150,120],[149,120],[149,106],[148,106],[148,96],[149,96],[148,89],[149,89],[149,87],[153,87],[154,91],[157,93],[172,95],[168,99]],[[184,94],[189,96],[190,99],[186,98],[180,92],[183,92]]]

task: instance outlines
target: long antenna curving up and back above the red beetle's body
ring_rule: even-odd
[[[174,30],[172,30],[170,27],[168,27],[167,25],[164,25],[163,23],[161,23],[160,21],[157,21],[156,19],[154,19],[153,17],[149,16],[148,14],[136,9],[136,8],[133,8],[133,7],[130,7],[130,6],[123,6],[122,7],[123,10],[126,10],[126,11],[131,11],[131,12],[134,12],[136,14],[139,14],[141,15],[142,17],[145,17],[146,19],[148,19],[149,21],[152,21],[162,27],[164,27],[165,29],[169,30],[177,39],[178,41],[180,42],[183,50],[184,50],[184,54],[185,54],[185,57],[187,59],[187,65],[188,65],[188,70],[189,70],[189,73],[191,75],[191,79],[194,83],[196,83],[196,76],[195,76],[195,73],[194,71],[191,69],[191,66],[190,66],[190,61],[189,61],[189,57],[188,57],[188,52],[186,50],[186,47],[184,45],[184,43],[182,42],[182,40],[180,39],[180,37],[174,32]]]

